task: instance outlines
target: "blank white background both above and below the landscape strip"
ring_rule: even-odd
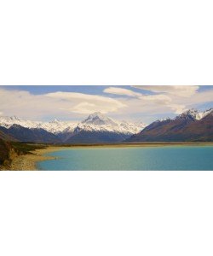
[[[213,84],[211,2],[0,0],[0,84]],[[212,184],[1,172],[0,255],[212,255]]]

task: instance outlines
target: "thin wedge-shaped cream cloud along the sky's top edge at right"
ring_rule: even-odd
[[[149,90],[156,93],[190,97],[195,95],[199,86],[197,85],[134,85],[133,87],[141,90]]]

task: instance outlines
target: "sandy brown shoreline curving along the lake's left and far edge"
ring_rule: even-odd
[[[47,148],[35,149],[31,154],[22,154],[12,160],[9,171],[39,171],[37,162],[54,160],[55,157],[47,156],[55,151],[69,148],[147,148],[147,147],[170,147],[170,146],[213,146],[213,143],[126,143],[126,144],[75,144],[66,146],[47,146]]]

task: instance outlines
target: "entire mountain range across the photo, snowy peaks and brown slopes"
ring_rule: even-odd
[[[38,122],[0,117],[0,138],[28,143],[140,143],[213,141],[213,108],[187,110],[150,125],[118,121],[95,112],[81,122]]]

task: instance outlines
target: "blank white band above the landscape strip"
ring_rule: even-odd
[[[212,0],[0,0],[0,84],[213,84]]]

